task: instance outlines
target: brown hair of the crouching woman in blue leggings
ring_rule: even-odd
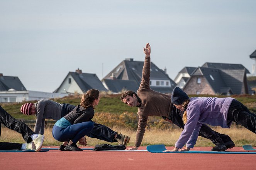
[[[87,90],[87,92],[84,93],[81,98],[80,105],[84,108],[87,108],[89,106],[93,107],[94,100],[98,99],[99,96],[100,96],[100,91],[98,91],[97,89]]]

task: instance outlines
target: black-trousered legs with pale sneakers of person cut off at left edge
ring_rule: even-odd
[[[0,136],[1,125],[20,133],[27,143],[0,142],[0,150],[35,150],[39,152],[44,142],[44,135],[34,133],[25,123],[16,120],[0,105]]]

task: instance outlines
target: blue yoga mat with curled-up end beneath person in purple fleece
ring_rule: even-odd
[[[149,145],[147,151],[151,153],[215,153],[215,154],[256,154],[256,152],[231,152],[231,151],[185,151],[185,152],[163,152],[167,150],[165,145]]]

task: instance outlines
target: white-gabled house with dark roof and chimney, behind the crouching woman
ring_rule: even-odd
[[[79,70],[78,68],[76,72],[68,73],[54,93],[83,94],[92,88],[100,91],[107,91],[96,74],[82,73],[82,70]]]

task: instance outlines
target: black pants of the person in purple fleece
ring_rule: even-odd
[[[256,133],[256,115],[241,102],[233,100],[227,113],[227,123],[231,121],[242,125],[253,133]]]

